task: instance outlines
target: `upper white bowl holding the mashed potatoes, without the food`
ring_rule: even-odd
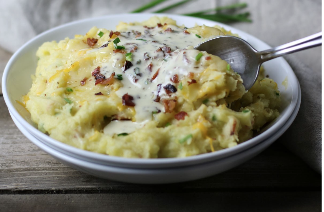
[[[296,111],[296,108],[298,111],[300,105],[300,86],[293,70],[288,65],[288,63],[283,58],[276,58],[271,61],[265,62],[263,65],[266,69],[266,73],[272,79],[274,79],[279,86],[280,94],[283,99],[283,106],[280,108],[280,117],[270,123],[266,128],[262,130],[261,133],[259,133],[254,138],[229,149],[191,156],[187,158],[128,159],[74,148],[50,138],[35,127],[30,119],[28,111],[26,111],[24,107],[19,105],[16,100],[19,100],[22,95],[25,95],[31,87],[32,82],[30,75],[35,73],[37,65],[37,58],[35,56],[35,53],[43,42],[61,40],[65,37],[74,37],[75,34],[85,34],[87,30],[93,26],[97,26],[99,28],[102,27],[114,29],[119,21],[143,21],[154,15],[171,17],[177,20],[177,23],[179,25],[184,24],[186,27],[192,27],[195,24],[205,24],[207,26],[219,25],[227,30],[231,30],[233,33],[239,34],[257,50],[265,50],[270,48],[270,46],[263,41],[230,26],[205,19],[178,15],[120,14],[71,22],[50,29],[38,35],[34,39],[31,39],[19,50],[17,50],[17,52],[12,56],[12,58],[6,65],[2,79],[2,91],[6,105],[8,106],[11,116],[16,119],[16,123],[21,124],[33,137],[46,144],[48,147],[51,147],[52,150],[60,152],[63,155],[68,155],[75,159],[98,165],[145,169],[192,166],[228,158],[241,152],[247,152],[248,149],[259,145],[262,141],[272,140],[273,142],[275,139],[271,139],[271,137],[277,138],[273,136],[283,128],[286,129],[287,124],[288,126],[290,126],[291,122],[287,121],[292,117],[292,114],[294,111]],[[282,85],[282,82],[286,80],[286,77],[288,81],[287,88]]]

